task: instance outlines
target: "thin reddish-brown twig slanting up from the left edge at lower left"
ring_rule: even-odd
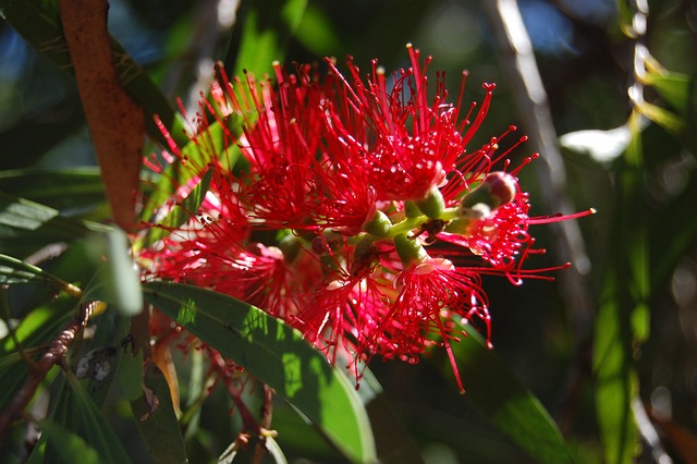
[[[30,369],[29,377],[24,382],[22,390],[17,392],[8,408],[0,415],[0,441],[4,439],[12,423],[22,417],[24,408],[34,396],[34,393],[36,393],[50,368],[63,358],[75,337],[85,328],[87,319],[97,304],[98,302],[81,304],[77,314],[68,322],[63,331],[51,341],[41,359]]]

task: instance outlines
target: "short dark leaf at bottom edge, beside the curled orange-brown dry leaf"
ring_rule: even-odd
[[[157,366],[149,365],[146,369],[140,395],[131,401],[131,410],[150,454],[158,462],[187,462],[170,388]]]

